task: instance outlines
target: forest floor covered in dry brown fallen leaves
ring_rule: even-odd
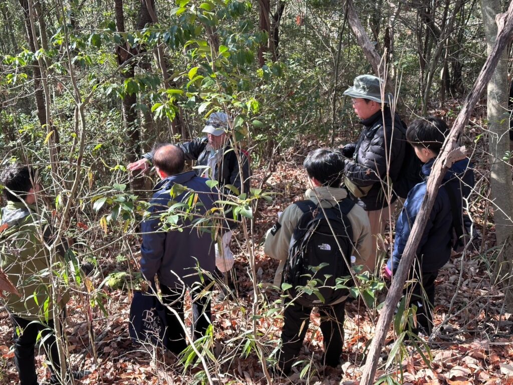
[[[255,217],[252,242],[257,271],[253,276],[264,286],[264,294],[258,302],[261,309],[259,314],[268,317],[257,317],[256,321],[251,317],[254,292],[248,274],[248,257],[246,252],[243,253],[247,247],[242,242],[242,234],[236,234],[232,241],[236,255],[233,271],[236,294],[223,298],[219,295],[219,287],[215,287],[212,295],[213,356],[207,361],[214,383],[266,383],[256,353],[257,347],[252,342],[253,325],[258,328],[261,348],[269,355],[279,340],[282,321],[274,303],[279,295],[266,288],[266,283],[272,282],[277,263],[263,254],[262,242],[278,212],[283,211],[291,201],[302,199],[306,186],[302,162],[308,150],[317,146],[316,138],[303,138],[282,152],[266,186],[281,195],[275,197],[272,203],[262,202],[260,212]],[[486,162],[475,163],[477,174],[484,175]],[[260,180],[265,171],[254,174],[255,179]],[[427,348],[421,348],[423,354],[429,353],[429,364],[410,343],[403,345],[402,357],[385,371],[383,365],[393,354],[393,333],[390,332],[387,338],[390,343],[382,352],[379,375],[402,373],[399,383],[415,385],[513,384],[513,317],[504,312],[504,293],[490,280],[489,259],[494,254],[495,239],[493,225],[487,221],[489,213],[484,202],[478,202],[473,213],[483,236],[481,250],[469,251],[463,258],[461,254],[451,257],[437,278],[435,325],[440,328],[427,342]],[[134,253],[138,242],[135,235],[129,240]],[[137,268],[134,261],[120,258],[119,254],[119,250],[107,248],[106,252],[97,256],[102,272],[93,280],[95,287],[116,269]],[[66,334],[71,362],[75,369],[92,372],[77,383],[189,384],[205,380],[201,364],[195,368],[193,365],[185,368],[172,354],[133,345],[128,335],[131,294],[127,290],[105,293],[109,297],[108,301],[104,301],[107,317],[97,306],[89,311],[86,291],[75,293],[68,304]],[[379,299],[383,300],[385,294],[386,290]],[[301,351],[300,359],[304,361],[294,367],[289,378],[277,378],[274,383],[358,383],[364,350],[373,336],[373,325],[378,317],[379,310],[367,311],[361,301],[349,303],[344,324],[343,364],[338,369],[325,370],[321,363],[322,334],[314,312]],[[90,348],[89,325],[97,341],[95,351]],[[4,311],[0,313],[0,382],[5,384],[17,381],[13,353],[10,351],[12,343],[12,326]],[[40,378],[48,376],[44,355],[38,355],[36,359]]]

